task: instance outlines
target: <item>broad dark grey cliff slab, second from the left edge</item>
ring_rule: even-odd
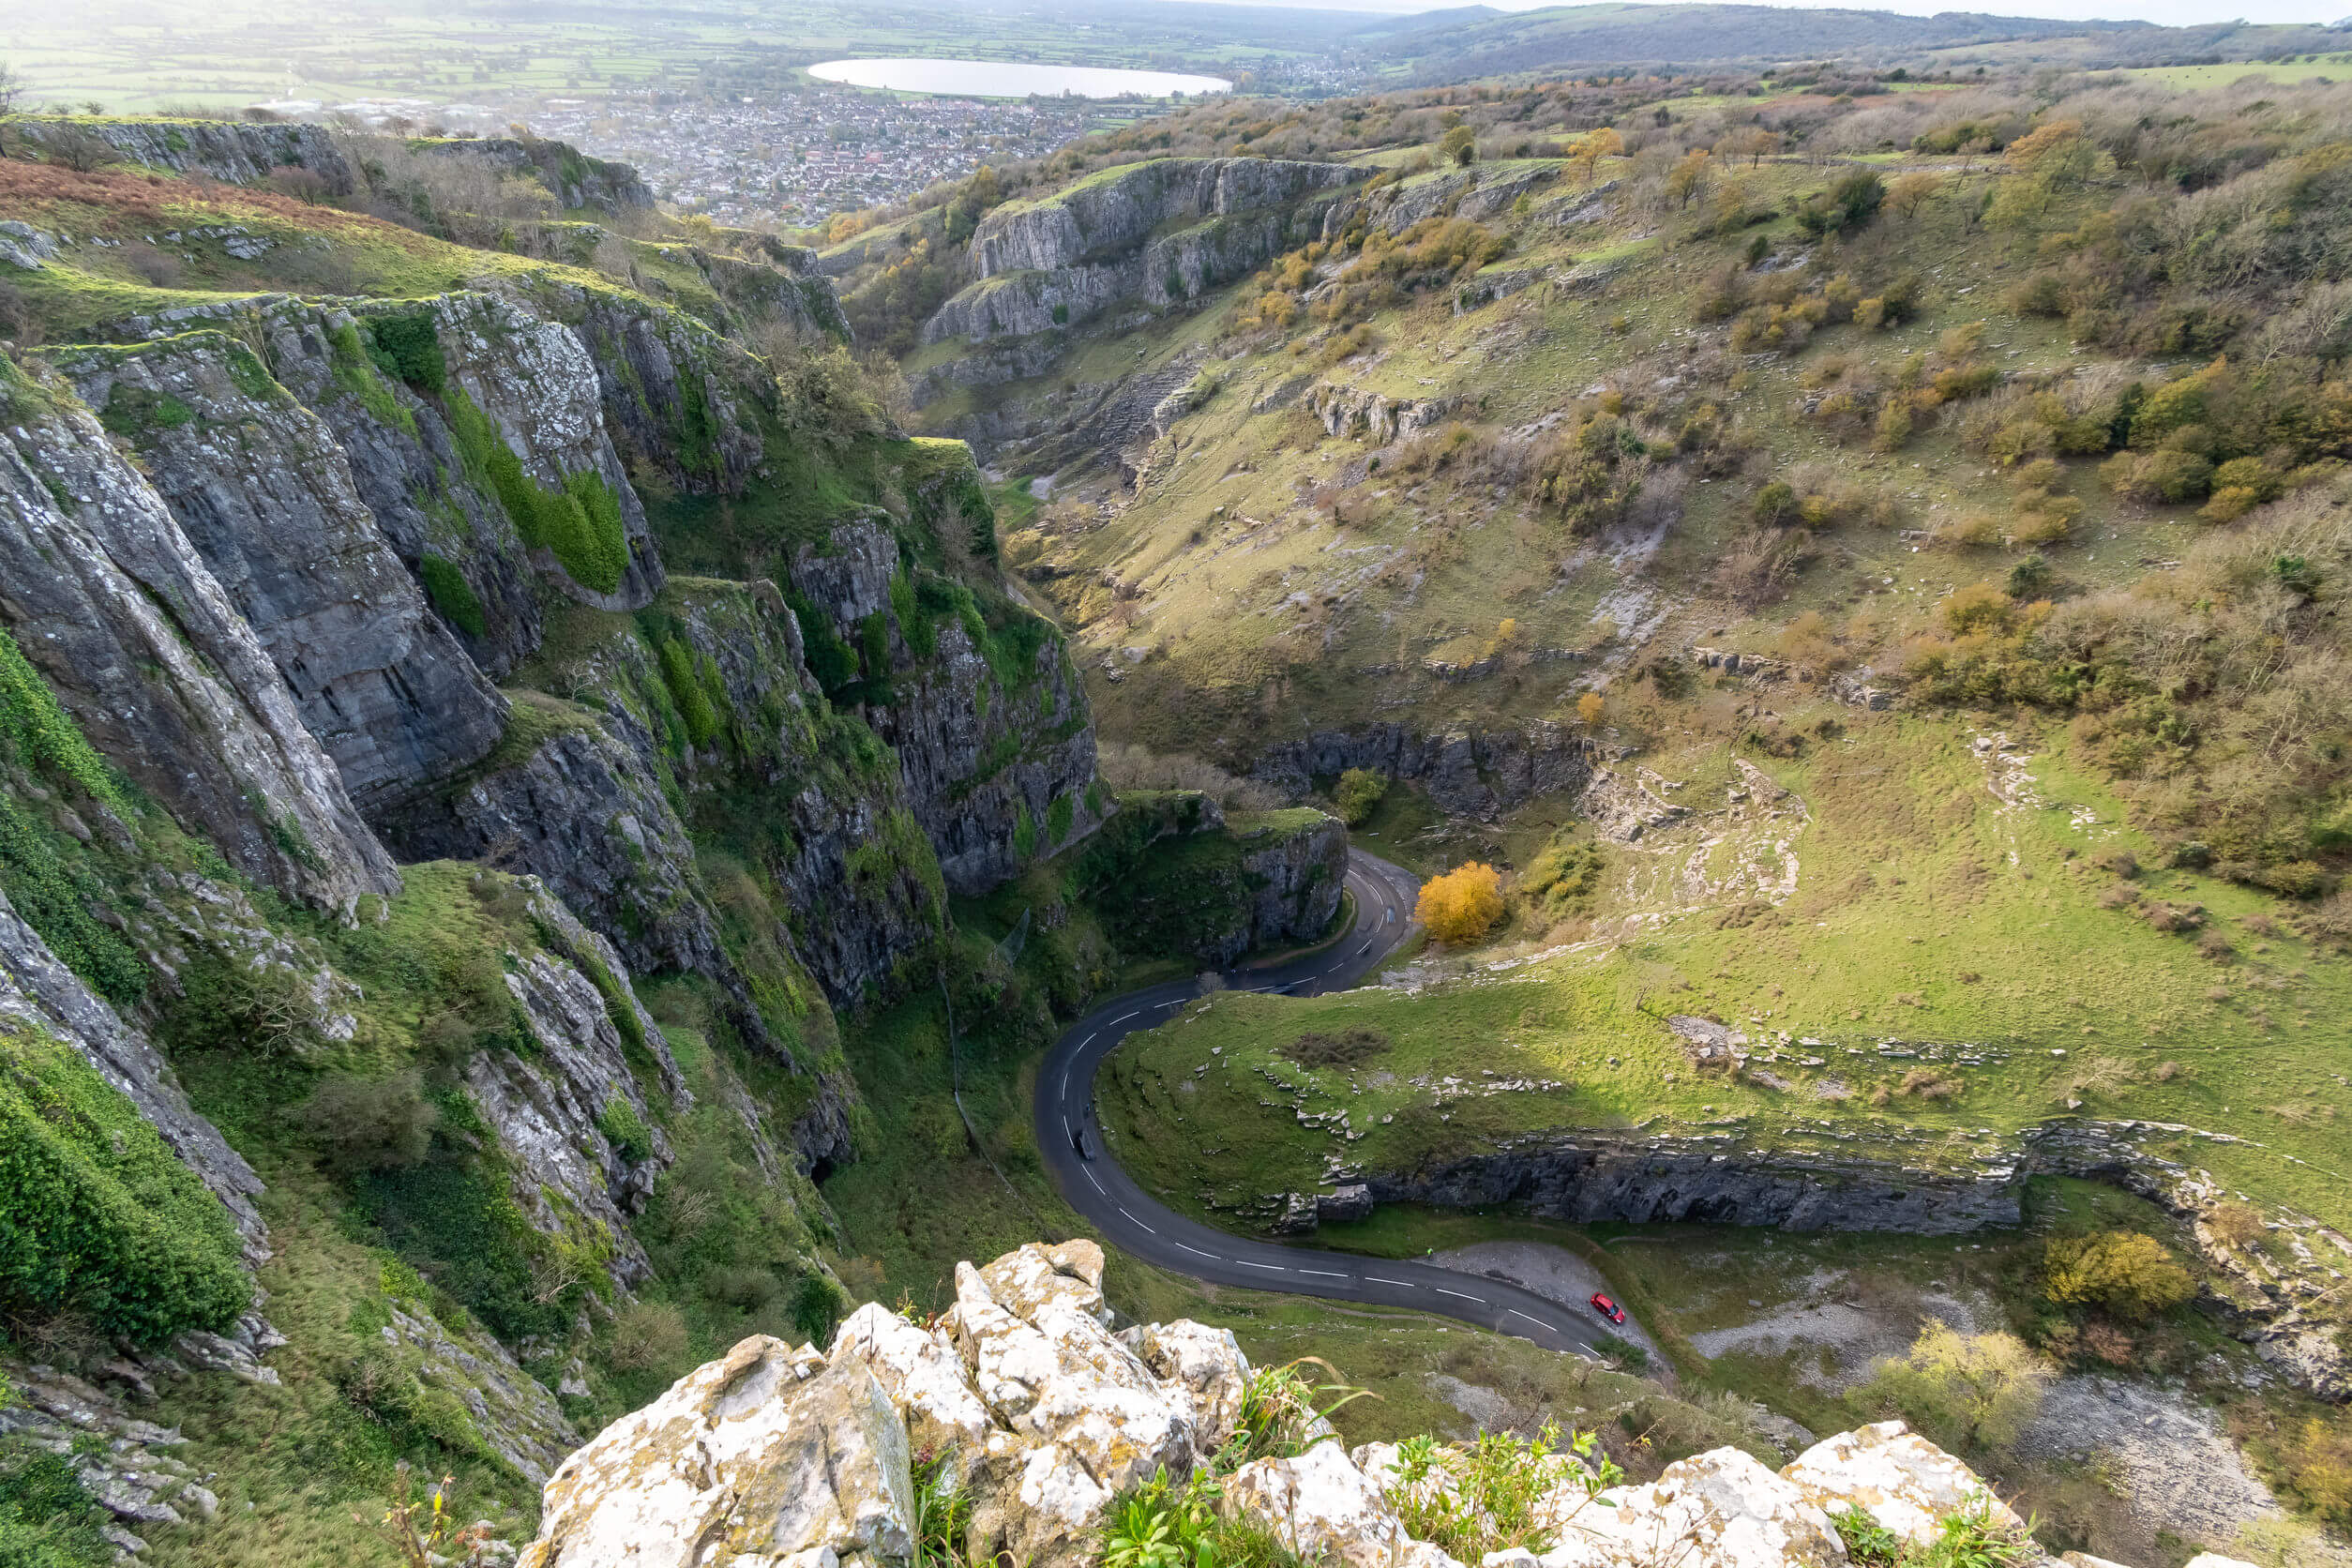
[[[252,350],[193,331],[59,367],[127,433],[362,811],[499,743],[506,698],[426,614],[329,428]]]

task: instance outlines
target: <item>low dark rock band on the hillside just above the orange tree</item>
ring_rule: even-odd
[[[1538,795],[1581,790],[1592,776],[1595,755],[1590,738],[1550,719],[1522,729],[1444,736],[1376,724],[1355,733],[1317,731],[1305,741],[1270,745],[1258,752],[1251,776],[1305,797],[1317,778],[1369,769],[1388,778],[1411,778],[1449,816],[1491,820]]]

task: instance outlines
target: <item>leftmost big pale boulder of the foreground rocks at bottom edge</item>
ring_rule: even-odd
[[[753,1335],[564,1460],[520,1568],[903,1563],[906,1427],[856,1356]]]

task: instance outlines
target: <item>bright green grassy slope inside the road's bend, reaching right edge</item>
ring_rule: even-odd
[[[2352,1060],[2343,1034],[2352,976],[2293,938],[2249,929],[2246,917],[2270,910],[2270,898],[2187,872],[2143,872],[2152,896],[2211,910],[2234,945],[2225,961],[2131,910],[2100,907],[2119,879],[2091,860],[2145,844],[2114,825],[2112,799],[2072,776],[2063,750],[2034,769],[2053,804],[2009,806],[1987,790],[1964,731],[1884,717],[1802,759],[1766,762],[1811,820],[1762,827],[1722,804],[1733,780],[1708,778],[1719,762],[1708,745],[1649,759],[1691,780],[1677,799],[1703,818],[1649,835],[1665,842],[1658,849],[1606,846],[1595,936],[1557,957],[1425,992],[1218,997],[1145,1037],[1105,1074],[1120,1157],[1171,1201],[1211,1190],[1232,1206],[1312,1187],[1334,1154],[1411,1168],[1432,1145],[1534,1128],[1710,1126],[1764,1145],[1835,1147],[1813,1131],[1882,1126],[1950,1135],[1966,1150],[1976,1128],[2013,1133],[2079,1098],[2084,1114],[2244,1138],[2183,1143],[2180,1152],[2234,1187],[2336,1225],[2352,1220],[2336,1126]],[[2098,820],[2077,827],[2074,806]],[[1797,893],[1778,912],[1724,924],[1738,898],[1679,896],[1689,856],[1726,879],[1740,856],[1773,858],[1776,842],[1799,863]],[[1780,1051],[1825,1065],[1771,1063],[1797,1084],[1792,1093],[1696,1077],[1663,1025],[1677,1011],[1818,1039]],[[1305,1086],[1310,1074],[1277,1060],[1277,1048],[1308,1030],[1345,1027],[1392,1039],[1355,1084],[1324,1070],[1294,1100],[1258,1077],[1268,1067]],[[1872,1088],[1898,1086],[1917,1065],[1882,1058],[1884,1039],[1966,1044],[1997,1060],[1957,1067],[1966,1081],[1957,1100],[1898,1095],[1872,1107]],[[1211,1072],[1192,1077],[1209,1060]],[[1437,1095],[1414,1077],[1475,1084],[1486,1072],[1564,1088],[1449,1098],[1435,1114],[1454,1119],[1430,1124]],[[1818,1100],[1813,1088],[1832,1077],[1853,1098]],[[1294,1107],[1345,1107],[1364,1135],[1348,1143],[1305,1128]]]

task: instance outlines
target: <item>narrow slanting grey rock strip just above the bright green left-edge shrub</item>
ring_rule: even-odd
[[[212,1190],[245,1234],[247,1262],[268,1258],[268,1234],[254,1199],[261,1178],[228,1147],[221,1131],[195,1114],[172,1065],[148,1037],[122,1020],[82,978],[56,961],[49,945],[16,917],[0,893],[0,1016],[16,1018],[73,1046],[113,1084],[179,1159]]]

